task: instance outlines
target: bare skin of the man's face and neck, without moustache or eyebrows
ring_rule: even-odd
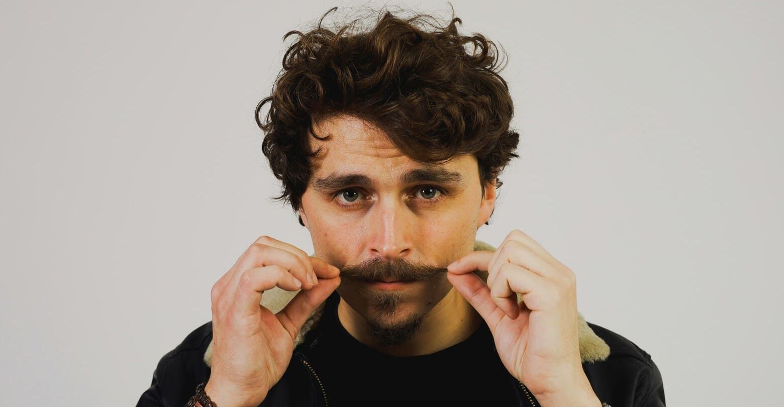
[[[459,173],[459,184],[404,184],[398,180],[402,173],[426,165],[402,154],[382,130],[354,116],[340,115],[314,123],[314,132],[332,135],[325,141],[310,139],[314,149],[323,151],[311,162],[314,172],[299,211],[310,231],[315,256],[339,268],[377,256],[447,267],[473,251],[477,229],[495,205],[495,185],[485,184],[482,195],[473,154],[435,165]],[[329,191],[314,184],[332,173],[361,173],[372,184],[349,184]],[[441,187],[446,193],[430,187]],[[405,300],[394,312],[383,313],[362,295],[365,283],[344,278],[337,289],[339,321],[357,340],[396,356],[445,349],[465,340],[481,323],[446,273],[407,285]],[[370,333],[368,322],[391,327],[418,316],[423,317],[422,324],[404,343],[383,345]]]

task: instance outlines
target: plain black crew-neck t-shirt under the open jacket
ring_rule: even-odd
[[[351,336],[332,293],[319,322],[323,333],[311,357],[329,405],[519,405],[517,381],[495,351],[482,321],[463,342],[433,354],[382,354]]]

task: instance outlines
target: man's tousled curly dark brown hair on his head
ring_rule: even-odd
[[[271,95],[256,106],[256,123],[266,133],[263,154],[282,182],[282,194],[274,199],[299,211],[310,158],[321,152],[311,149],[308,137],[328,140],[314,133],[313,124],[336,114],[372,123],[416,162],[474,154],[482,196],[485,183],[500,187],[498,174],[517,157],[519,135],[510,129],[514,107],[498,74],[503,67],[495,44],[479,33],[460,35],[456,23],[462,20],[454,9],[445,26],[430,15],[401,18],[382,10],[368,31],[355,32],[359,20],[353,20],[334,32],[322,21],[336,9],[310,31],[284,35],[284,41],[299,38],[283,57]]]

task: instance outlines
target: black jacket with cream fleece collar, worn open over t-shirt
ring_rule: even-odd
[[[492,246],[477,241],[474,250],[488,248],[492,249]],[[477,274],[487,278],[486,274]],[[296,293],[270,290],[264,293],[262,305],[277,312],[294,295]],[[310,363],[315,352],[328,351],[318,346],[321,333],[318,321],[323,310],[324,304],[303,326],[288,369],[260,407],[329,405],[329,389],[324,388],[318,377],[319,367]],[[665,405],[662,375],[651,355],[636,344],[609,329],[586,322],[579,314],[579,346],[583,370],[602,402],[612,407]],[[198,383],[209,380],[211,361],[212,322],[207,322],[163,355],[153,372],[151,386],[143,392],[136,407],[183,407]],[[539,406],[524,383],[511,374],[509,384],[517,389],[518,405]]]

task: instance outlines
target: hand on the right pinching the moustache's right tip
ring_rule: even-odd
[[[579,353],[572,270],[518,230],[495,251],[474,251],[447,268],[449,282],[487,322],[503,365],[542,405],[598,402]],[[487,285],[475,270],[488,271]],[[583,401],[590,402],[576,404]]]

